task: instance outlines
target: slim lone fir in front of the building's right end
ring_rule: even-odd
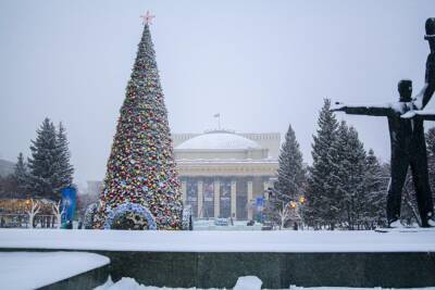
[[[275,186],[281,194],[287,196],[288,200],[296,200],[301,194],[306,177],[302,161],[299,143],[291,125],[289,125],[279,152],[278,176]]]

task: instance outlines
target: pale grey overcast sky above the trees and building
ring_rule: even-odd
[[[434,8],[433,0],[2,0],[0,159],[28,155],[48,116],[66,126],[78,182],[102,179],[139,16],[150,10],[172,133],[215,128],[214,113],[239,133],[284,135],[291,124],[311,163],[323,98],[382,103],[398,98],[401,78],[415,92],[422,87],[424,22]],[[337,117],[388,161],[385,118]]]

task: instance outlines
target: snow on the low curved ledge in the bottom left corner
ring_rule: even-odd
[[[35,289],[109,263],[84,252],[0,252],[0,289]]]

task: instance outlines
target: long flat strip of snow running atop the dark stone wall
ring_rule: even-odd
[[[134,231],[0,229],[3,249],[150,252],[435,252],[435,230]]]

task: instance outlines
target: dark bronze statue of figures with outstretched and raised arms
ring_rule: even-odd
[[[424,112],[435,90],[435,18],[426,21],[426,36],[431,53],[426,61],[425,85],[422,91],[411,99],[412,81],[402,79],[398,84],[400,99],[385,105],[349,106],[337,103],[333,111],[347,114],[386,116],[388,118],[391,146],[391,179],[387,196],[387,219],[389,227],[400,223],[401,190],[411,166],[417,192],[421,226],[435,226],[434,204],[428,184],[424,119],[435,121],[435,114]]]

